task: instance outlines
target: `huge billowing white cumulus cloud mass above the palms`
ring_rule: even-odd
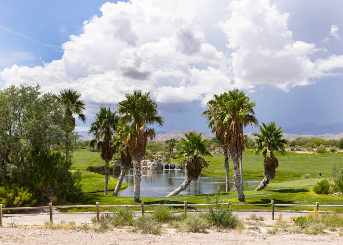
[[[135,88],[160,103],[205,103],[232,88],[287,91],[343,67],[343,56],[318,59],[316,44],[294,40],[288,14],[269,0],[131,0],[100,11],[62,45],[60,60],[5,68],[3,86],[73,87],[90,105],[117,103]],[[339,37],[337,26],[330,35]]]

